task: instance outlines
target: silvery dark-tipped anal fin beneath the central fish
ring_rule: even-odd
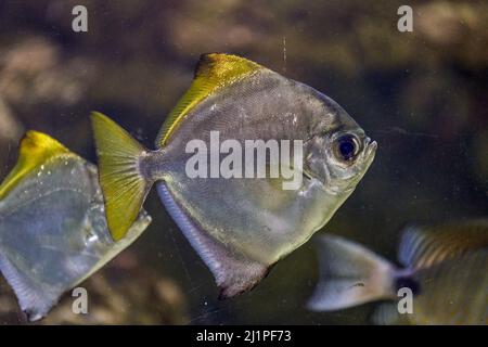
[[[159,182],[157,191],[167,211],[214,274],[220,287],[219,298],[223,299],[251,291],[268,274],[270,265],[240,255],[215,240],[193,221],[175,201],[166,183]]]

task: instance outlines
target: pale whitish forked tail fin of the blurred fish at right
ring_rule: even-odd
[[[365,247],[335,235],[318,237],[320,278],[308,307],[339,310],[395,296],[397,270]]]

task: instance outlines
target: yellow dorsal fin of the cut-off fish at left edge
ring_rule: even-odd
[[[0,200],[5,197],[28,172],[46,164],[50,158],[66,154],[75,155],[46,133],[27,131],[21,141],[17,164],[0,185]]]

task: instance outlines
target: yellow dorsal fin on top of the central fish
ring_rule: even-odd
[[[205,98],[261,68],[265,67],[236,55],[203,54],[190,88],[163,124],[156,145],[164,146],[183,117]]]

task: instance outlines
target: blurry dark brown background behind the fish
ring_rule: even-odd
[[[72,9],[88,8],[88,33]],[[413,33],[397,9],[414,10]],[[378,142],[375,163],[322,232],[390,259],[400,228],[488,211],[488,1],[0,0],[0,178],[25,129],[94,162],[98,110],[147,146],[189,86],[201,53],[255,60],[335,99]],[[42,323],[365,323],[374,304],[305,309],[317,280],[311,243],[252,293],[218,301],[209,271],[153,192],[154,222]],[[12,231],[14,232],[14,231]],[[24,323],[0,280],[0,323]]]

